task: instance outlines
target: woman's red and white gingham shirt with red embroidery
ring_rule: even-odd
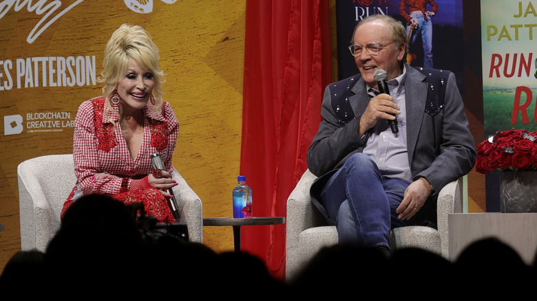
[[[101,109],[95,109],[95,101],[104,101],[104,98],[87,100],[78,107],[75,118],[73,137],[73,159],[74,171],[78,184],[81,186],[83,194],[117,194],[122,192],[127,184],[127,188],[132,178],[139,179],[153,172],[150,156],[153,153],[160,153],[166,166],[166,170],[171,172],[173,165],[171,157],[176,148],[179,123],[176,115],[168,102],[162,104],[162,111],[152,113],[151,102],[144,108],[144,137],[140,152],[136,159],[132,159],[127,148],[127,143],[121,134],[120,126],[114,129],[113,136],[110,135],[115,145],[109,150],[99,149],[99,137],[101,135],[96,129],[96,122],[102,119],[103,124],[110,124],[106,118],[101,118]],[[99,115],[100,114],[100,115]],[[119,118],[118,109],[112,114],[112,118],[117,122]],[[166,122],[164,141],[159,145],[151,145],[151,126],[154,122]],[[154,126],[155,127],[155,126]],[[156,136],[156,135],[155,135]],[[101,137],[102,138],[102,137]],[[153,137],[156,140],[156,137]],[[162,146],[164,146],[162,148]],[[161,149],[160,149],[161,148]],[[96,173],[107,172],[109,177],[94,178]],[[128,178],[127,180],[125,180]],[[126,181],[126,182],[125,182]]]

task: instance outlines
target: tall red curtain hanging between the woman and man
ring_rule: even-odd
[[[246,2],[241,175],[254,216],[286,216],[332,80],[328,0]],[[242,227],[242,250],[284,278],[285,225]]]

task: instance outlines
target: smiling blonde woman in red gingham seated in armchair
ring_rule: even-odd
[[[62,217],[79,197],[106,194],[127,205],[143,203],[145,213],[162,223],[175,222],[167,190],[177,185],[170,174],[179,124],[162,101],[159,59],[158,47],[142,27],[123,24],[112,34],[99,77],[103,96],[86,100],[76,113],[77,182]],[[154,170],[153,153],[160,153],[165,170]]]

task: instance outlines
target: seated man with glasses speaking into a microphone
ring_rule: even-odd
[[[394,227],[435,226],[435,192],[472,170],[474,138],[454,74],[404,62],[408,40],[399,21],[368,16],[351,43],[359,74],[324,92],[308,150],[308,168],[319,177],[311,195],[340,243],[389,256]],[[389,93],[379,93],[379,69]],[[388,120],[397,120],[398,133]]]

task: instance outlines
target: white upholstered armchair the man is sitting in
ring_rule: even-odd
[[[324,216],[310,199],[310,187],[317,177],[306,170],[287,199],[286,279],[295,276],[303,265],[324,246],[338,242],[335,225],[327,225]],[[462,177],[448,183],[439,192],[438,230],[425,226],[399,227],[390,232],[392,250],[417,247],[449,259],[448,214],[462,212]]]

